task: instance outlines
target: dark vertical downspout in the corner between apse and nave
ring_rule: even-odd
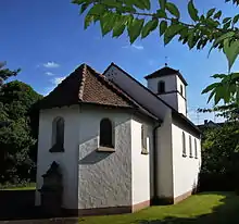
[[[159,122],[159,121],[158,121]],[[158,198],[158,148],[156,148],[156,130],[162,123],[158,123],[153,128],[153,204],[159,202]]]

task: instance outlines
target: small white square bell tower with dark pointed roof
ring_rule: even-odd
[[[187,82],[178,70],[165,66],[144,77],[148,88],[173,107],[178,113],[187,116]]]

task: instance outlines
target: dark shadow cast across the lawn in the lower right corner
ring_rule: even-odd
[[[239,223],[239,196],[234,195],[231,192],[204,192],[200,195],[221,195],[224,196],[221,199],[221,203],[212,208],[211,211],[206,214],[191,216],[191,217],[181,217],[183,215],[178,214],[178,216],[166,216],[161,220],[138,220],[134,222],[134,224],[184,224],[184,223],[194,223],[194,224],[238,224]],[[190,214],[189,214],[190,215]]]

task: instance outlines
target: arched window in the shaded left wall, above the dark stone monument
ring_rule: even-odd
[[[52,122],[52,148],[50,151],[64,151],[64,119],[60,116],[55,117]]]

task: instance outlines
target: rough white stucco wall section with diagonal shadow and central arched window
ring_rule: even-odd
[[[98,152],[100,121],[114,127],[115,152]],[[79,115],[78,209],[131,206],[131,115],[81,108]]]

